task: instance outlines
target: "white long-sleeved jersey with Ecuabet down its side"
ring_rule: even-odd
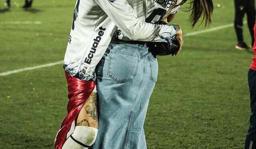
[[[159,20],[173,2],[77,0],[64,58],[65,71],[81,80],[95,81],[94,69],[115,31],[120,34],[120,39],[168,42],[176,34],[175,27],[152,23]],[[177,11],[178,7],[172,13]]]

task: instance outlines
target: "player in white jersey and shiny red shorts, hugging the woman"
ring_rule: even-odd
[[[137,4],[140,2],[143,1],[136,1]],[[166,8],[171,3],[172,0],[168,0],[166,3],[162,2],[162,5]],[[146,5],[136,11],[133,7],[134,3],[128,3],[127,0],[77,0],[64,58],[70,100],[67,115],[56,135],[55,149],[86,149],[96,139],[98,121],[95,113],[96,94],[93,92],[96,85],[94,70],[104,55],[116,26],[134,41],[170,43],[175,37],[175,25],[141,21],[137,14],[140,18],[147,14],[144,13]],[[161,13],[163,14],[162,11]]]

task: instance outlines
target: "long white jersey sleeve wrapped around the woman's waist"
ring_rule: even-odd
[[[174,25],[142,22],[127,0],[95,0],[114,24],[131,40],[168,42],[174,39]]]

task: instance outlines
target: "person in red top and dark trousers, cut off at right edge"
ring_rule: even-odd
[[[256,22],[254,25],[254,37],[256,37]],[[253,45],[252,64],[248,72],[248,84],[250,89],[251,114],[250,127],[246,134],[244,149],[256,149],[256,42]]]

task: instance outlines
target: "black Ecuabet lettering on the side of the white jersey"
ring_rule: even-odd
[[[96,48],[98,47],[101,37],[104,35],[104,31],[106,30],[106,28],[103,27],[100,27],[99,29],[100,31],[98,32],[98,36],[93,39],[94,43],[92,44],[91,51],[85,58],[84,63],[91,64],[93,54],[96,52]]]

